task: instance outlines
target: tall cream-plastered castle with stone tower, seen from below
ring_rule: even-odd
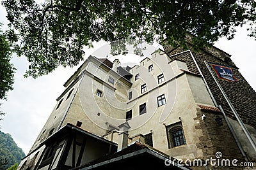
[[[163,46],[133,67],[90,55],[65,82],[19,169],[243,169],[211,158],[253,164],[256,93],[230,55]]]

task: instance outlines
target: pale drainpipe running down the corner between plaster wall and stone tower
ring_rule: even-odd
[[[212,98],[212,101],[213,101],[214,105],[215,105],[217,108],[220,108],[221,112],[223,113],[223,116],[224,116],[224,118],[225,118],[225,120],[226,120],[226,122],[227,122],[228,128],[230,129],[230,132],[231,132],[232,136],[234,137],[234,139],[235,139],[235,141],[236,141],[236,143],[237,143],[237,146],[238,146],[240,152],[242,153],[242,155],[243,155],[244,159],[246,160],[246,162],[248,162],[248,159],[247,159],[247,157],[246,157],[246,155],[245,155],[245,153],[244,153],[243,147],[242,147],[242,145],[241,145],[239,139],[237,138],[236,133],[234,132],[234,129],[232,128],[232,126],[231,126],[231,124],[230,124],[230,122],[229,122],[229,120],[228,120],[228,118],[227,118],[227,115],[225,114],[225,112],[224,112],[223,108],[221,107],[221,105],[218,105],[217,102],[216,102],[216,100],[214,99],[214,96],[212,95],[211,89],[209,88],[209,85],[208,85],[207,81],[206,81],[205,78],[204,78],[204,74],[202,73],[200,67],[198,66],[198,64],[197,64],[197,62],[196,62],[196,60],[195,60],[195,57],[193,56],[193,53],[191,52],[191,50],[189,50],[189,53],[190,53],[190,55],[191,55],[193,61],[195,62],[195,65],[196,65],[196,67],[197,67],[199,73],[200,73],[201,76],[202,76],[202,79],[203,79],[203,81],[204,81],[204,83],[205,83],[205,86],[206,86],[206,88],[207,88],[207,90],[208,90],[208,92],[209,92],[209,94],[210,94],[210,96],[211,96],[211,98]]]

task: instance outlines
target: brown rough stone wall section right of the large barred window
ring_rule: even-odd
[[[202,120],[201,116],[205,114],[205,120]],[[198,117],[194,118],[199,122],[198,125],[195,126],[196,129],[202,130],[202,136],[199,137],[200,142],[196,143],[196,146],[202,149],[204,160],[211,160],[212,163],[216,163],[216,166],[212,166],[211,162],[207,162],[207,165],[210,169],[241,169],[241,167],[232,166],[232,160],[237,159],[237,165],[240,162],[245,162],[241,152],[237,148],[237,144],[235,139],[233,138],[230,130],[228,128],[227,123],[224,120],[224,117],[221,113],[216,111],[207,111],[197,109],[196,115]],[[218,125],[215,118],[216,115],[222,118],[223,125]],[[218,158],[216,158],[216,153],[221,152],[222,156],[219,158],[219,166],[218,166]],[[225,166],[225,164],[221,164],[221,160],[228,159],[230,160],[230,166]],[[227,164],[228,165],[228,164]],[[194,167],[193,169],[196,169]]]

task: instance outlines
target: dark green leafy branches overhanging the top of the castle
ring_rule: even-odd
[[[5,0],[2,4],[10,21],[8,38],[15,42],[18,55],[28,57],[26,76],[34,78],[60,65],[75,66],[83,59],[83,47],[93,41],[166,39],[170,45],[186,47],[189,37],[195,48],[201,48],[222,36],[231,39],[236,26],[255,22],[256,6],[250,0],[46,0],[42,5]],[[255,28],[251,31],[256,36]],[[117,53],[125,51],[124,44],[112,45]]]

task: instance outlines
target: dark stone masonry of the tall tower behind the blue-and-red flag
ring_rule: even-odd
[[[214,47],[213,47],[214,48]],[[173,50],[168,46],[164,46],[164,50],[168,55],[173,55],[175,53],[182,52],[181,48]],[[223,110],[228,115],[228,117],[236,120],[234,113],[228,106],[227,101],[221,94],[220,89],[216,85],[216,82],[211,76],[211,73],[205,66],[204,60],[207,62],[212,62],[214,64],[221,64],[225,66],[232,67],[233,74],[236,78],[239,78],[239,81],[225,81],[219,80],[221,87],[225,90],[228,98],[236,108],[237,113],[243,120],[245,124],[252,125],[256,128],[256,92],[252,89],[250,84],[243,78],[242,74],[239,72],[239,69],[232,62],[232,60],[227,57],[227,53],[219,50],[218,48],[214,49],[215,53],[210,52],[209,50],[202,50],[201,52],[192,52],[195,57],[198,66],[200,67],[202,73],[204,74],[205,80],[207,81],[211,92],[216,99],[218,104],[221,104]],[[218,56],[216,54],[218,53]],[[215,56],[214,56],[215,55]],[[242,57],[242,56],[241,56]],[[199,74],[198,69],[196,68],[195,63],[189,52],[182,53],[180,55],[175,55],[171,57],[172,60],[182,60],[188,65],[189,71]],[[213,69],[212,69],[213,71]],[[218,78],[217,74],[214,72],[215,76]]]

